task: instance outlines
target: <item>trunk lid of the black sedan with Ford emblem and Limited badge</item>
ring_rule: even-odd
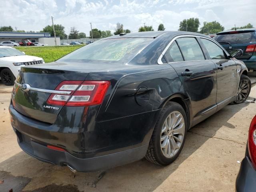
[[[12,104],[25,116],[53,124],[63,106],[47,103],[50,91],[62,81],[84,81],[87,75],[86,72],[62,69],[22,67],[14,84]],[[28,84],[31,90],[22,88],[23,84]]]

